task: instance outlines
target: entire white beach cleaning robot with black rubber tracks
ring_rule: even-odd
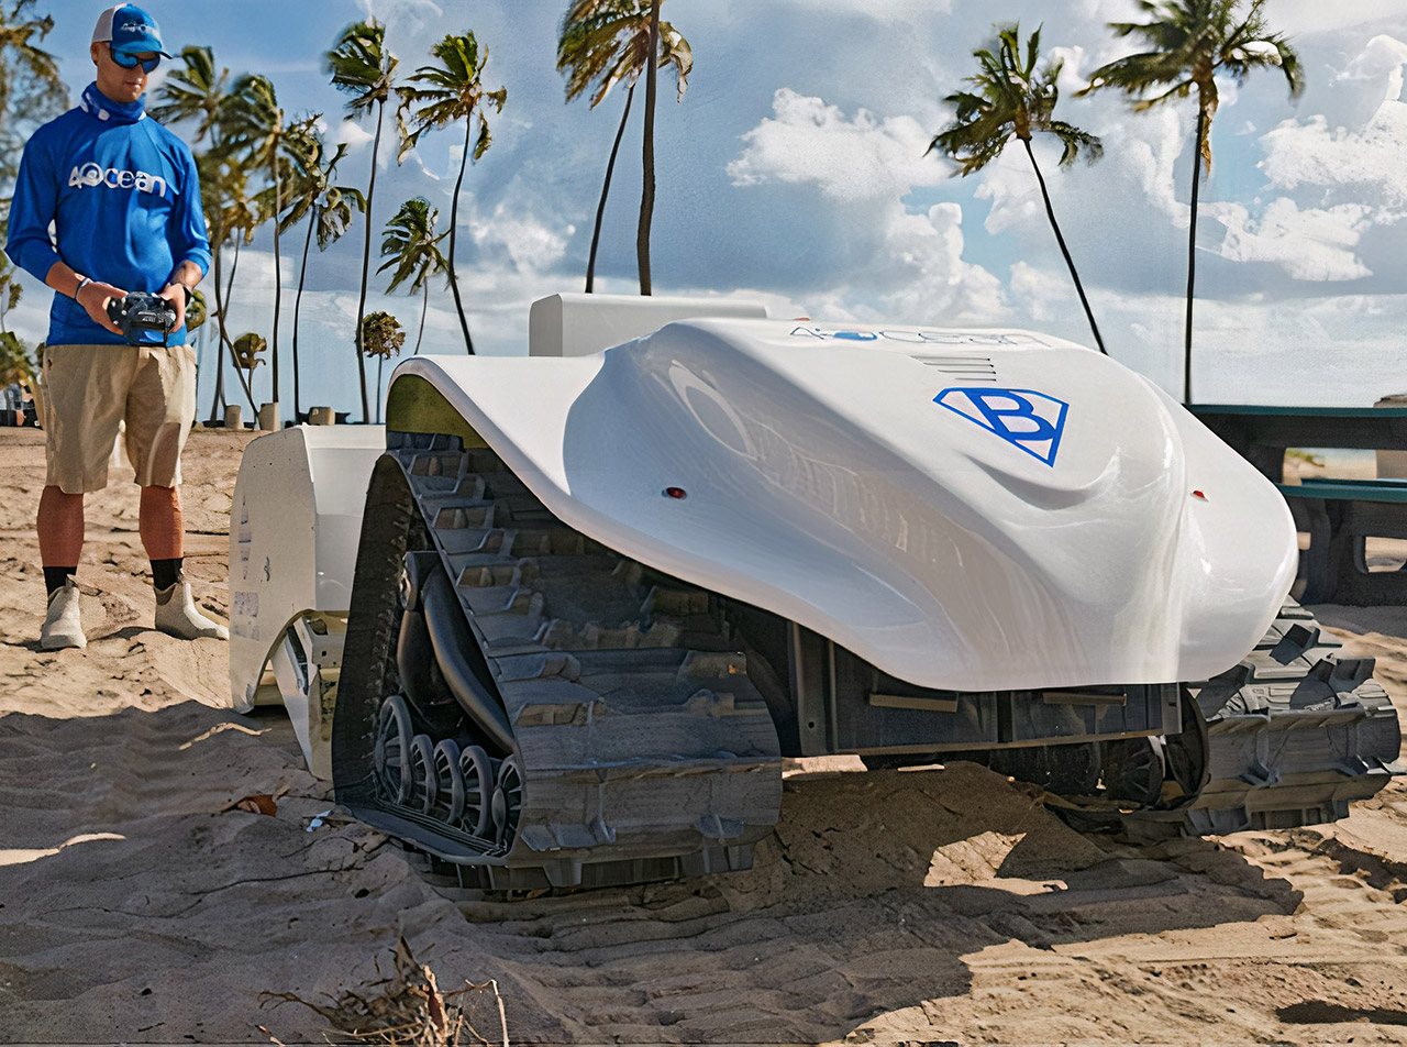
[[[1285,827],[1400,742],[1296,557],[1275,487],[1086,348],[556,296],[529,356],[401,363],[384,431],[249,445],[231,678],[494,889],[746,868],[796,756]]]

